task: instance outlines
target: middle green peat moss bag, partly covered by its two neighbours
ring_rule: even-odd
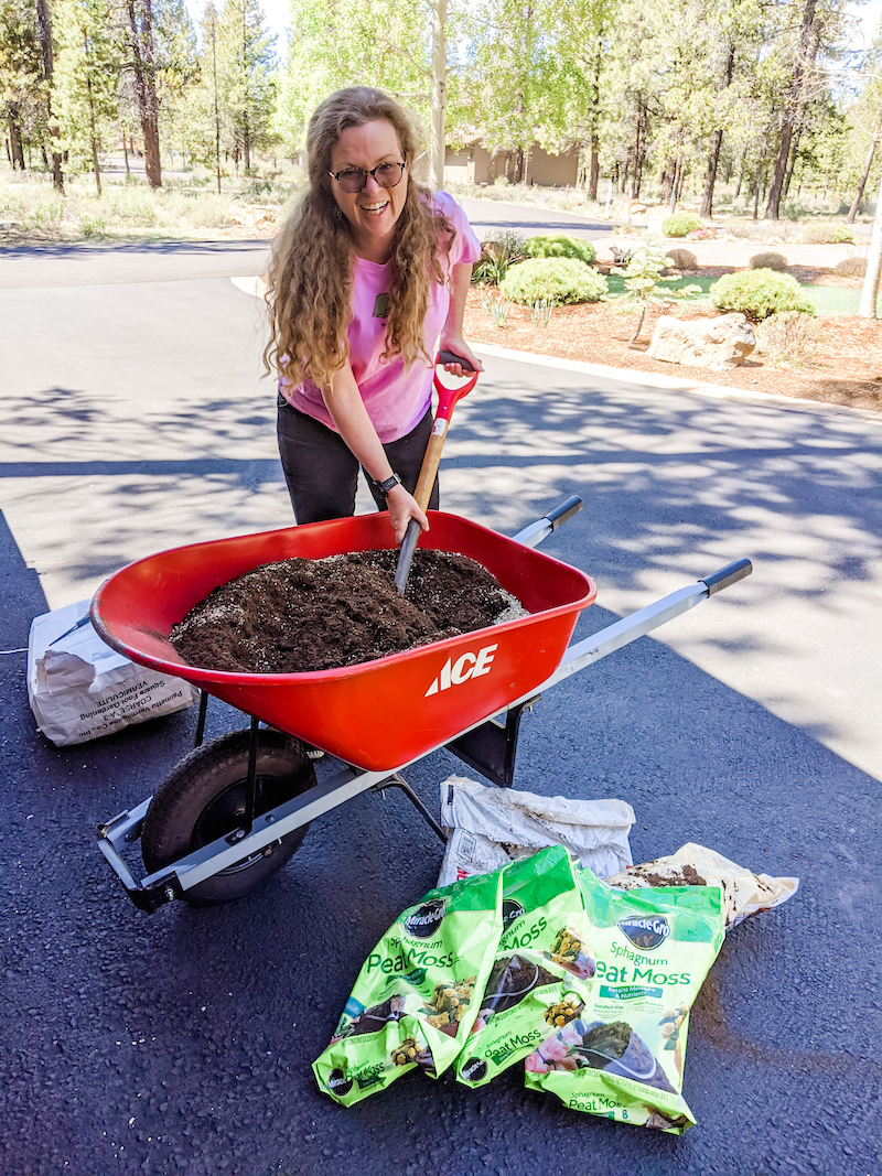
[[[502,870],[502,938],[456,1062],[469,1087],[490,1082],[582,1015],[595,973],[582,896],[562,846]]]

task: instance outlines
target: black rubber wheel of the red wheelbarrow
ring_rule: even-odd
[[[141,831],[141,856],[151,874],[241,827],[248,744],[247,730],[206,743],[181,760],[156,789]],[[282,731],[260,731],[256,773],[255,816],[315,784],[306,746]],[[185,901],[213,907],[241,898],[290,861],[308,828],[295,829],[186,890]]]

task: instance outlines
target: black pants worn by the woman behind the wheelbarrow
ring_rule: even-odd
[[[355,514],[355,492],[361,467],[340,434],[292,408],[282,395],[279,395],[278,434],[279,455],[296,521],[322,522]],[[430,435],[429,410],[410,433],[383,446],[392,468],[410,494],[416,489]],[[383,496],[377,493],[370,477],[367,474],[365,476],[374,502],[380,510],[385,510]],[[439,488],[435,479],[429,497],[430,509],[437,510],[437,503]]]

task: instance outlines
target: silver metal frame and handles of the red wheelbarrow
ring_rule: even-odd
[[[514,541],[528,547],[536,547],[567,519],[577,513],[581,507],[581,499],[567,500],[556,510],[549,512],[543,519],[521,530],[514,536]],[[503,711],[500,711],[500,715],[505,716],[503,719],[497,716],[482,719],[465,728],[453,740],[442,741],[393,769],[367,770],[346,766],[308,791],[279,804],[268,813],[258,816],[256,820],[253,817],[253,796],[260,721],[252,716],[247,779],[247,794],[250,796],[252,803],[246,804],[246,814],[252,814],[252,816],[246,815],[241,828],[194,850],[172,866],[148,874],[139,882],[122,860],[122,851],[139,840],[147,809],[153,799],[151,796],[135,808],[120,813],[113,820],[100,824],[98,828],[99,848],[133,903],[141,910],[154,911],[175,898],[186,898],[187,891],[193,887],[221,873],[221,870],[229,869],[243,858],[258,854],[273,842],[370,788],[380,791],[389,787],[401,788],[437,835],[446,840],[437,822],[401,776],[405,768],[443,747],[492,782],[501,787],[510,786],[521,716],[524,709],[539,701],[544,690],[569,677],[570,674],[594,664],[616,649],[621,649],[632,641],[636,641],[637,637],[652,633],[653,629],[657,629],[674,617],[695,608],[696,604],[715,593],[743,580],[744,576],[750,575],[751,570],[749,560],[737,560],[569,646],[556,670],[544,682],[522,697],[514,700]],[[196,746],[202,739],[207,694],[202,691]]]

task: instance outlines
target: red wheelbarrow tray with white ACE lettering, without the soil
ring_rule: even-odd
[[[529,615],[406,653],[303,674],[243,674],[189,666],[172,627],[220,584],[280,560],[320,560],[394,546],[385,514],[191,543],[122,568],[95,593],[92,621],[114,649],[182,677],[265,723],[368,770],[393,769],[503,710],[557,668],[589,576],[440,510],[421,546],[466,555],[515,595]]]

